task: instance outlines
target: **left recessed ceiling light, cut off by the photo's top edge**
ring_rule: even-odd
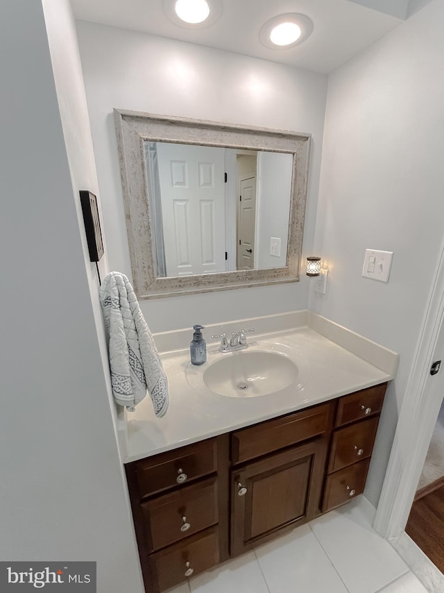
[[[221,0],[163,0],[163,4],[170,21],[185,28],[212,25],[222,12]]]

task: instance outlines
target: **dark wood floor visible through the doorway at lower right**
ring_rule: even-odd
[[[405,531],[444,573],[444,486],[413,503]]]

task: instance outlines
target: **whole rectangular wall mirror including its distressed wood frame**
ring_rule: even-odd
[[[137,297],[299,280],[309,134],[114,120]]]

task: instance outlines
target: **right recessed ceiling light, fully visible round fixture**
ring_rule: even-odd
[[[259,32],[259,39],[265,47],[288,49],[307,39],[313,31],[313,23],[305,15],[279,15],[267,21]]]

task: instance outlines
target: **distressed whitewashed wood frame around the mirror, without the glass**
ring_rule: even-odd
[[[133,284],[139,299],[298,282],[302,255],[310,134],[228,125],[114,109]],[[176,142],[291,153],[293,172],[287,265],[284,267],[160,278],[156,276],[153,220],[146,183],[144,142]]]

